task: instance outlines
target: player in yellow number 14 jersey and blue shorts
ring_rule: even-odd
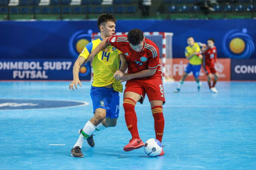
[[[105,37],[114,35],[116,18],[111,14],[102,14],[98,17],[100,38],[88,43],[73,66],[73,81],[70,90],[82,87],[78,73],[82,64],[87,63],[88,55],[97,47]],[[119,64],[122,62],[120,68]],[[97,55],[92,62],[94,70],[93,82],[90,90],[94,116],[79,130],[80,136],[71,150],[71,156],[84,157],[81,148],[85,140],[94,147],[93,132],[101,131],[107,127],[114,127],[119,115],[119,92],[122,92],[122,84],[119,79],[123,75],[128,63],[125,56],[115,47],[109,45]]]

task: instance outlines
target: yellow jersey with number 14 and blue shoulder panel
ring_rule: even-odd
[[[98,46],[98,44],[102,41],[101,38],[96,39],[88,43],[82,53],[79,55],[87,59],[89,54]],[[109,45],[103,51],[100,51],[97,55],[94,56],[94,60],[92,62],[93,68],[93,82],[92,86],[94,87],[102,87],[108,86],[112,84],[113,89],[116,92],[123,91],[123,85],[120,81],[117,81],[114,78],[114,73],[120,67],[120,58],[119,54],[122,53],[116,47]]]

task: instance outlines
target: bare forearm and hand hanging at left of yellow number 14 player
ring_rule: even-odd
[[[78,73],[80,71],[80,66],[86,61],[86,59],[82,56],[79,56],[77,59],[76,59],[76,62],[74,63],[74,66],[73,66],[73,81],[70,83],[69,85],[69,89],[71,90],[74,90],[74,85],[77,89],[77,84],[79,84],[80,87],[82,87],[82,84],[79,80],[79,76],[78,76]]]

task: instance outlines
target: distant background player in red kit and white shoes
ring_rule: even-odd
[[[208,85],[211,92],[218,93],[218,90],[215,88],[215,84],[218,80],[218,72],[214,68],[214,63],[217,60],[217,49],[214,46],[214,39],[208,39],[207,47],[203,47],[202,51],[204,53],[204,70],[208,76]],[[214,80],[211,85],[212,74],[214,74]]]

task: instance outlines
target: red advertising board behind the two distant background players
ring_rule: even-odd
[[[187,59],[173,59],[173,65],[172,65],[172,75],[175,81],[180,80],[184,73],[184,69],[186,68],[188,64]],[[215,69],[218,71],[219,79],[220,81],[227,81],[230,80],[230,59],[217,59],[217,62],[215,63]],[[201,68],[200,70],[200,80],[206,81],[207,76],[204,72],[204,69]],[[191,81],[194,80],[193,73],[190,72],[188,76],[186,77],[186,80]],[[185,80],[185,81],[186,81]]]

